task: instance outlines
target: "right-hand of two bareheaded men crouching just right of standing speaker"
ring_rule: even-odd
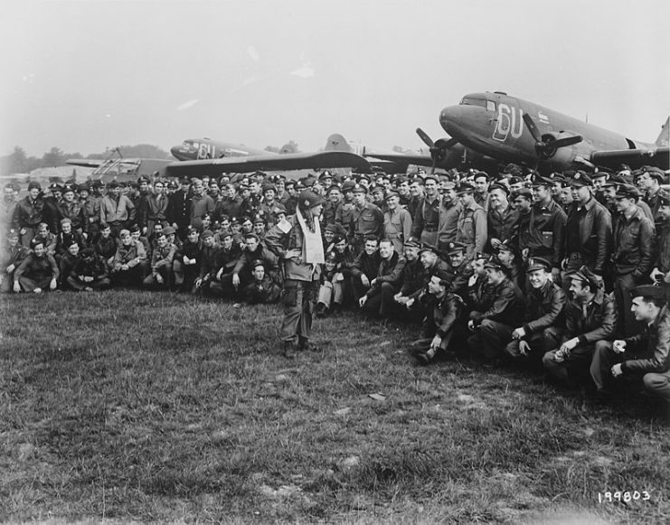
[[[367,244],[367,243],[366,243]],[[380,264],[377,275],[370,282],[370,288],[358,301],[366,314],[386,318],[392,313],[395,304],[393,295],[400,290],[402,270],[405,258],[395,252],[391,239],[379,243]]]

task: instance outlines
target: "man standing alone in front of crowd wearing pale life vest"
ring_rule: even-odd
[[[325,262],[318,223],[323,203],[318,193],[304,190],[298,196],[296,214],[269,230],[265,238],[268,248],[283,260],[284,319],[280,338],[287,358],[294,356],[296,348],[309,348],[320,265]]]

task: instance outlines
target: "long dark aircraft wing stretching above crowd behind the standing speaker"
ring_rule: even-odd
[[[175,162],[167,166],[171,175],[203,176],[255,171],[290,171],[317,168],[355,168],[371,173],[370,163],[362,156],[345,151],[292,153],[286,155],[250,155],[198,161]]]

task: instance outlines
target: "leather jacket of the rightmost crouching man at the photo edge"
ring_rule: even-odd
[[[624,372],[665,372],[670,369],[670,311],[664,306],[654,323],[646,324],[642,333],[628,337]]]

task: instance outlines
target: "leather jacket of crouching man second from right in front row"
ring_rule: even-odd
[[[602,290],[598,290],[593,300],[586,305],[586,314],[582,305],[575,301],[568,301],[565,305],[566,337],[577,337],[580,345],[609,339],[616,326],[617,306]]]

